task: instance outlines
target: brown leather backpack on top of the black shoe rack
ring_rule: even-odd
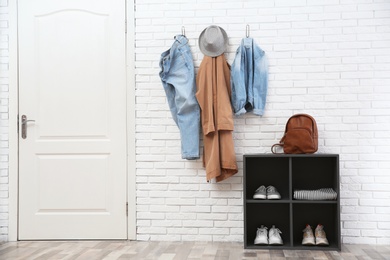
[[[283,147],[284,153],[315,153],[318,150],[317,123],[307,114],[296,114],[286,124],[284,136],[278,144],[271,147],[272,153],[277,146]]]

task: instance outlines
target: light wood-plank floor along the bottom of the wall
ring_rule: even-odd
[[[244,250],[242,243],[222,242],[23,241],[0,244],[0,259],[390,259],[390,245],[343,245],[337,252]]]

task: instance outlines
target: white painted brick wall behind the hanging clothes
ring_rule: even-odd
[[[0,239],[7,239],[7,1],[1,15]],[[137,239],[242,241],[242,155],[268,153],[288,117],[319,127],[319,152],[340,154],[343,243],[390,243],[390,2],[376,0],[136,1]],[[4,17],[4,18],[3,18]],[[184,25],[196,69],[211,24],[234,59],[245,26],[270,61],[265,115],[235,119],[239,174],[206,183],[200,160],[180,156],[158,73]],[[5,70],[3,70],[5,68]],[[313,173],[315,174],[315,173]]]

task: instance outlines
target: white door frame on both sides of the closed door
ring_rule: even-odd
[[[136,240],[135,185],[135,14],[134,0],[126,1],[126,114],[127,114],[127,239]],[[9,1],[9,222],[8,241],[18,240],[19,204],[19,80],[18,80],[18,1]]]

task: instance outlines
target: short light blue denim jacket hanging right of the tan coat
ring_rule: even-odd
[[[253,38],[242,39],[231,66],[230,81],[235,115],[249,111],[263,115],[268,89],[268,61]]]

